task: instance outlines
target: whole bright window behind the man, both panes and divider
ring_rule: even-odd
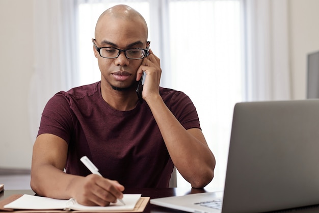
[[[81,85],[100,80],[91,38],[99,14],[119,4],[101,2],[78,7]],[[151,48],[161,58],[161,86],[183,91],[193,100],[207,143],[217,159],[209,187],[223,188],[233,106],[244,99],[241,0],[123,4],[138,10],[148,23]],[[180,175],[177,184],[190,185]]]

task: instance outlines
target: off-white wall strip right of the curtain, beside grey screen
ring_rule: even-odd
[[[307,54],[319,50],[319,1],[289,0],[290,68],[293,98],[306,96]]]

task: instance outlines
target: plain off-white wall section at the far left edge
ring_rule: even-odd
[[[33,72],[33,1],[0,0],[0,167],[31,167],[28,94]]]

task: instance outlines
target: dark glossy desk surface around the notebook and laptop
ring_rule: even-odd
[[[188,188],[142,188],[142,189],[126,189],[124,194],[142,194],[143,197],[161,198],[169,196],[181,196],[194,193],[212,192],[212,189],[188,189]],[[0,201],[14,194],[29,194],[34,195],[32,190],[5,190],[0,193]],[[170,208],[164,208],[148,203],[144,212],[152,213],[166,213],[166,212],[183,212],[179,210],[173,210]]]

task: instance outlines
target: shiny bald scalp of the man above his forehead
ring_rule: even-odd
[[[116,5],[112,8],[105,10],[98,18],[96,26],[95,26],[95,37],[97,37],[97,34],[100,28],[103,27],[103,24],[105,24],[105,21],[108,21],[108,20],[110,21],[124,20],[124,21],[130,22],[131,24],[142,25],[146,33],[146,38],[148,36],[146,21],[144,17],[138,11],[136,11],[135,9],[127,5]]]

